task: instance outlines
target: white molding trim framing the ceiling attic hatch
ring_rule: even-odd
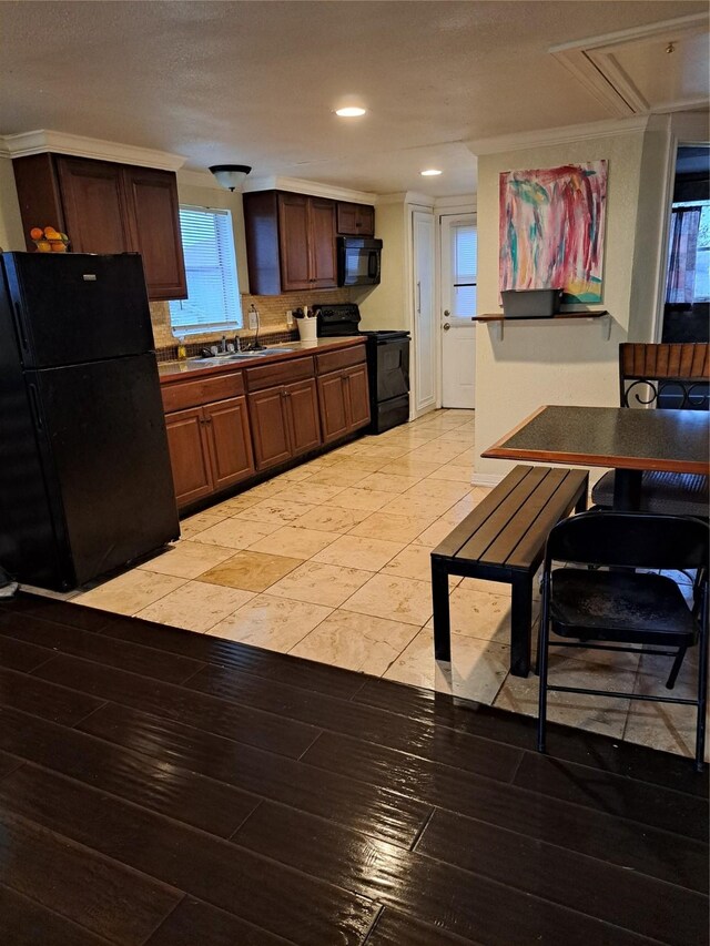
[[[616,115],[643,114],[651,110],[672,112],[707,106],[707,99],[676,99],[649,103],[620,65],[617,55],[631,47],[638,48],[662,40],[678,43],[708,32],[708,13],[696,13],[649,23],[630,30],[620,30],[586,40],[550,47],[549,52],[565,67],[594,98]]]

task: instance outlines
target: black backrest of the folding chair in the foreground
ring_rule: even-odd
[[[550,531],[546,561],[698,569],[708,566],[710,526],[684,516],[592,510],[564,519]]]

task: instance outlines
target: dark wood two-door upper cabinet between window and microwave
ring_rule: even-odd
[[[244,227],[252,294],[337,285],[335,201],[283,191],[246,193]]]

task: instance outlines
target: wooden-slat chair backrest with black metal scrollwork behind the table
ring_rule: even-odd
[[[621,407],[708,410],[709,384],[707,342],[619,345]]]

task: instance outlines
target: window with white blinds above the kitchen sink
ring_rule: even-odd
[[[187,298],[170,303],[176,335],[242,326],[232,214],[207,207],[180,208]]]

